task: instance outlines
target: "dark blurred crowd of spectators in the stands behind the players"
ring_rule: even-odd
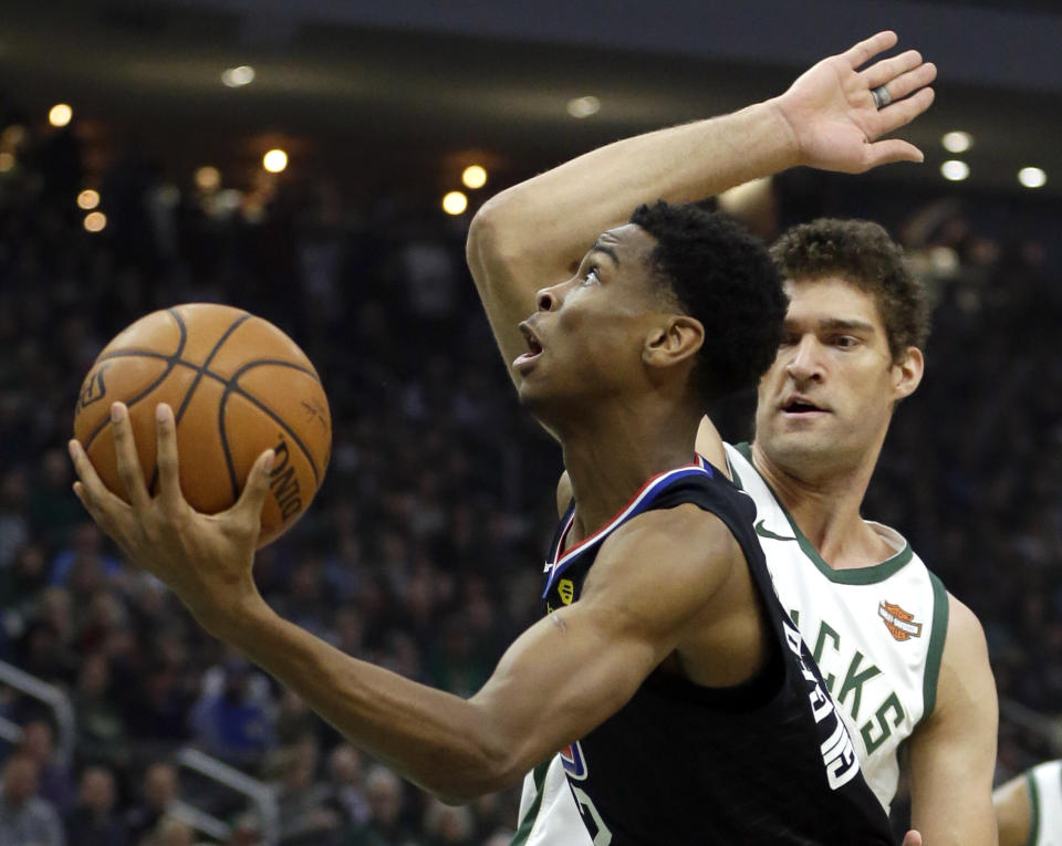
[[[352,209],[326,181],[220,202],[131,150],[98,181],[106,228],[87,232],[75,133],[10,130],[0,659],[67,691],[75,733],[64,749],[48,708],[0,686],[0,718],[21,728],[0,749],[0,843],[260,843],[246,798],[180,764],[189,745],[275,787],[283,846],[508,843],[516,790],[465,807],[427,797],[126,566],[71,493],[64,447],[82,378],[135,318],[216,301],[272,320],[322,376],[334,445],[313,506],[259,555],[264,597],[350,655],[472,693],[537,616],[560,457],[516,404],[465,269],[467,221],[399,196]],[[809,197],[816,213],[877,217],[930,285],[927,377],[864,512],[979,615],[1000,694],[1062,712],[1062,271],[1045,242],[981,213],[990,199],[777,191],[779,220]],[[747,435],[747,398],[721,424]],[[1004,719],[1003,773],[1058,753]]]

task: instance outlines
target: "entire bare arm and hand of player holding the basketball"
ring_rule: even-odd
[[[717,592],[729,597],[735,572],[747,570],[722,523],[691,505],[643,514],[617,530],[580,602],[528,629],[482,690],[465,700],[351,658],[269,608],[251,572],[269,452],[237,504],[209,516],[181,497],[168,406],[157,420],[155,495],[124,406],[116,405],[113,428],[132,504],[111,493],[81,446],[71,443],[75,492],[101,528],[208,631],[299,692],[352,742],[446,800],[467,801],[516,782],[618,710],[673,652],[699,677],[732,675],[726,661],[706,666],[697,650],[706,619],[725,619],[733,606],[729,598],[715,602]],[[644,567],[647,560],[675,564],[663,574]]]

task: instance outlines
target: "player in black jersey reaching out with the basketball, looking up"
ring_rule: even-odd
[[[764,149],[781,138],[794,153],[780,115],[752,119]],[[266,605],[252,563],[271,451],[236,505],[199,514],[180,492],[173,410],[158,407],[153,495],[115,404],[131,504],[72,441],[75,492],[208,631],[445,800],[513,784],[563,750],[595,844],[889,843],[774,596],[748,498],[694,456],[707,404],[753,385],[778,347],[784,297],[762,246],[694,208],[643,207],[535,300],[512,367],[522,403],[561,441],[573,497],[545,617],[469,700],[355,660]]]

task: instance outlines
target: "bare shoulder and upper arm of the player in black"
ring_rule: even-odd
[[[499,785],[618,711],[698,633],[717,588],[743,566],[729,530],[695,505],[617,530],[580,598],[528,629],[470,700],[507,750]]]

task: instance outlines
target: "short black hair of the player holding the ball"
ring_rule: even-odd
[[[695,369],[705,405],[756,385],[778,355],[788,305],[763,242],[694,205],[639,206],[631,222],[656,239],[655,275],[705,327]]]

